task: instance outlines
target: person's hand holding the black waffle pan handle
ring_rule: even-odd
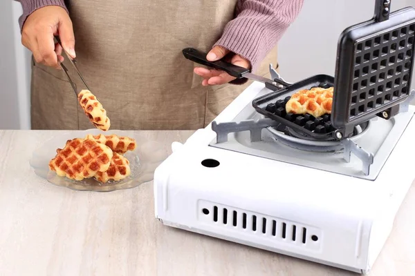
[[[222,46],[214,46],[214,48],[208,52],[206,59],[208,59],[208,61],[217,61],[226,55],[230,55],[230,60],[228,60],[228,62],[243,68],[251,68],[250,62],[247,59],[244,59],[240,55],[232,55],[228,49],[225,49]],[[223,70],[197,67],[194,68],[194,72],[203,77],[203,86],[215,86],[218,84],[228,83],[235,79],[235,77],[228,75],[228,73]]]

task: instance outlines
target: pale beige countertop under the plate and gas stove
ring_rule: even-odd
[[[358,275],[163,226],[153,184],[79,192],[37,177],[30,156],[59,131],[0,130],[1,275]],[[142,131],[170,153],[191,131]],[[415,186],[370,275],[415,275]]]

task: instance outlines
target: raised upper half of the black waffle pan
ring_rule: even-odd
[[[338,42],[331,122],[343,137],[409,96],[415,50],[415,8],[389,15],[376,0],[375,17],[342,32]],[[385,112],[386,116],[385,116]]]

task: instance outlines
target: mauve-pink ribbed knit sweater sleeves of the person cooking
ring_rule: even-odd
[[[61,6],[64,0],[16,0],[21,3],[23,14],[19,18],[23,27],[26,18],[38,8]],[[239,0],[236,17],[223,30],[215,43],[248,59],[252,72],[268,52],[277,44],[284,32],[295,20],[304,0]],[[67,11],[67,9],[66,9]]]

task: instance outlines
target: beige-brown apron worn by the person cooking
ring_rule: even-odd
[[[237,0],[68,1],[77,64],[118,130],[204,128],[250,83],[202,86],[182,49],[208,52]],[[277,63],[270,52],[257,71]],[[33,62],[33,129],[93,128],[62,70]]]

